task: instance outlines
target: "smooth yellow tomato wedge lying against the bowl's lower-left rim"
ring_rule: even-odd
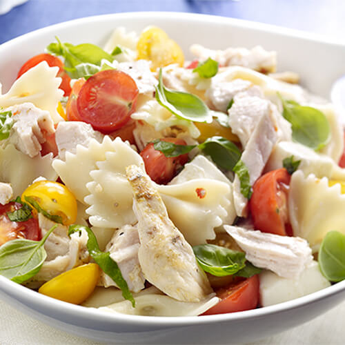
[[[60,301],[81,304],[95,290],[99,279],[99,266],[86,264],[61,273],[39,288],[39,293]]]

